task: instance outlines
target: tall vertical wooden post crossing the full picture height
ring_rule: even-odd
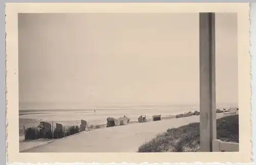
[[[200,151],[212,152],[216,139],[215,13],[199,13]]]

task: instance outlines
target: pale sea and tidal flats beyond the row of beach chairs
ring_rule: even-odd
[[[223,104],[217,108],[231,106],[236,105]],[[195,110],[199,111],[199,105],[116,105],[94,109],[19,110],[19,129],[23,132],[23,126],[36,127],[40,121],[71,126],[80,125],[82,119],[89,125],[100,125],[106,124],[106,117],[118,118],[125,115],[130,117],[131,121],[137,121],[140,115],[146,115],[147,119],[151,119],[152,115],[171,115]]]

